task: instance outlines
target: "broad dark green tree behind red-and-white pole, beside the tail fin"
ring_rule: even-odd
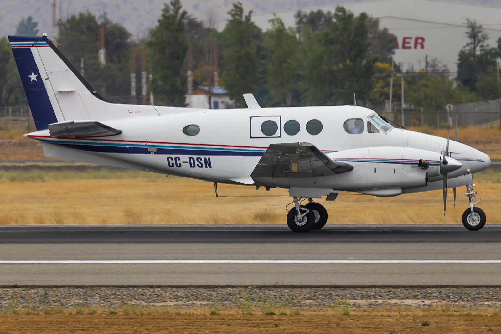
[[[130,33],[120,24],[105,19],[106,65],[98,61],[98,24],[90,12],[72,15],[58,22],[61,52],[80,69],[84,77],[112,102],[127,102],[130,95]]]

